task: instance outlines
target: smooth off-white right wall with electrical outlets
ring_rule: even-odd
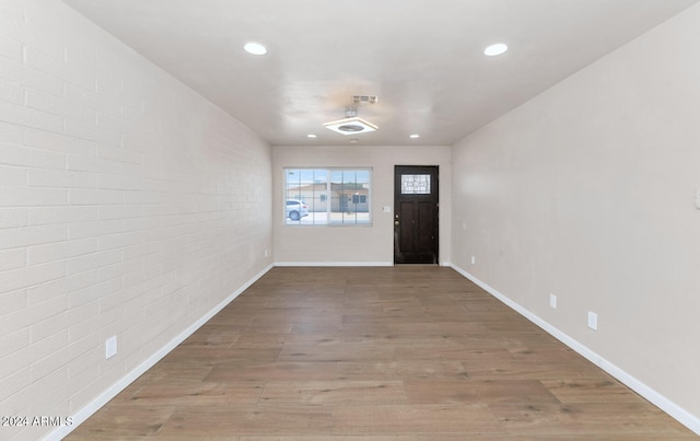
[[[452,256],[697,431],[699,28],[695,7],[458,142]]]

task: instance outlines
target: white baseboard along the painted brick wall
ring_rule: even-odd
[[[170,351],[175,349],[177,345],[185,341],[187,337],[192,335],[197,329],[199,329],[205,323],[207,323],[211,317],[217,315],[221,310],[223,310],[229,303],[233,301],[233,299],[241,295],[243,291],[245,291],[250,285],[257,281],[260,277],[265,276],[267,271],[272,269],[273,265],[268,265],[260,272],[255,275],[250,280],[248,280],[245,285],[238,288],[231,295],[221,301],[217,306],[214,306],[211,311],[205,314],[197,322],[192,323],[185,330],[179,333],[177,337],[173,338],[167,345],[163,346],[160,350],[149,357],[144,362],[142,362],[139,367],[133,369],[131,372],[127,373],[122,376],[118,382],[113,384],[108,390],[103,392],[100,396],[93,399],[90,404],[88,404],[82,409],[78,410],[75,415],[73,415],[73,425],[70,427],[59,427],[52,432],[50,432],[45,441],[54,441],[61,440],[67,437],[72,430],[74,430],[78,426],[83,423],[90,416],[100,410],[102,406],[107,404],[112,398],[114,398],[119,392],[124,391],[129,384],[131,384],[136,379],[141,376],[145,371],[151,369],[155,363],[158,363],[163,357],[165,357]]]

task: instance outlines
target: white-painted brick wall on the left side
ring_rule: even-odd
[[[61,2],[2,0],[0,415],[75,416],[264,271],[270,173],[268,144]]]

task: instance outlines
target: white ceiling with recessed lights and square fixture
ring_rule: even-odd
[[[698,1],[65,0],[272,144],[368,146],[452,144]],[[380,130],[324,129],[353,95]]]

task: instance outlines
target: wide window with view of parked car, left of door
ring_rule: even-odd
[[[284,169],[288,225],[371,224],[371,169]]]

